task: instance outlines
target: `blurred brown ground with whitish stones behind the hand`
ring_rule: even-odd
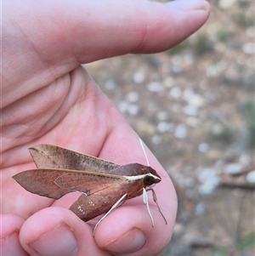
[[[86,65],[173,179],[178,217],[160,256],[255,250],[254,1],[209,3],[176,47]]]

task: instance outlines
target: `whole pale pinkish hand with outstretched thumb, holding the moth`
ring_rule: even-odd
[[[3,1],[3,255],[156,255],[167,246],[177,196],[148,148],[150,166],[162,179],[155,191],[167,225],[149,192],[155,227],[139,196],[109,214],[93,237],[97,219],[85,223],[68,210],[77,194],[54,201],[25,191],[11,177],[35,168],[27,148],[39,143],[146,164],[139,136],[81,64],[171,48],[208,15],[203,0]]]

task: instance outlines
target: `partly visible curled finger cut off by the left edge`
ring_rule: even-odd
[[[1,214],[0,216],[1,232],[1,255],[27,256],[26,251],[21,247],[19,240],[19,232],[24,219],[15,214]]]

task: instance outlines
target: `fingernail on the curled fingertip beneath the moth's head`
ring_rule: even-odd
[[[144,233],[138,228],[127,231],[120,238],[111,241],[105,247],[110,253],[134,253],[144,246]]]

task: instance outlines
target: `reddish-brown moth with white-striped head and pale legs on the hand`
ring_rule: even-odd
[[[49,198],[59,199],[70,192],[82,192],[70,210],[84,221],[105,213],[94,231],[113,209],[140,195],[143,195],[154,226],[146,191],[152,191],[153,200],[161,213],[152,189],[161,177],[150,166],[139,163],[119,165],[57,145],[35,145],[29,151],[37,168],[15,174],[13,178],[26,191]],[[162,213],[161,216],[167,224]]]

